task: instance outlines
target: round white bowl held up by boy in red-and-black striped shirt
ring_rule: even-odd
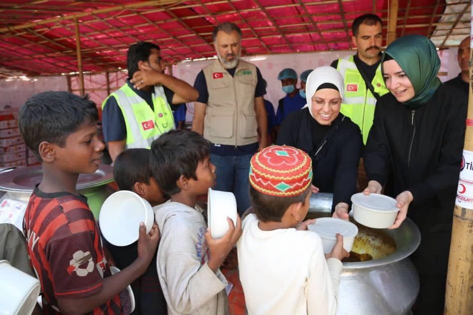
[[[115,246],[127,246],[136,242],[140,222],[145,223],[146,233],[149,233],[154,223],[154,212],[150,203],[133,191],[114,192],[100,209],[100,231]]]

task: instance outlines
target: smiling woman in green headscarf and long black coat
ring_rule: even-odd
[[[376,104],[364,152],[365,193],[381,193],[390,173],[401,209],[391,228],[407,215],[422,235],[411,256],[421,282],[414,314],[442,314],[467,98],[437,78],[440,59],[427,37],[399,38],[381,62],[391,93]]]

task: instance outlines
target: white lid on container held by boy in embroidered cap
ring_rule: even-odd
[[[337,218],[318,218],[315,223],[307,227],[310,231],[317,233],[321,238],[336,240],[337,233],[344,238],[355,237],[358,227],[350,221]]]

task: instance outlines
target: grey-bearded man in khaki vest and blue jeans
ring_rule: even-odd
[[[266,89],[259,69],[240,59],[239,27],[224,22],[212,35],[218,59],[196,77],[199,98],[192,130],[212,143],[211,160],[217,166],[215,189],[234,192],[241,215],[250,206],[249,161],[267,145]]]

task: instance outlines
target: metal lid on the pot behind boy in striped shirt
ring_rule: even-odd
[[[33,191],[34,185],[43,178],[41,165],[18,167],[0,173],[0,190],[3,191]],[[80,174],[77,179],[77,189],[92,188],[113,181],[113,167],[100,164],[99,168],[90,174]]]

